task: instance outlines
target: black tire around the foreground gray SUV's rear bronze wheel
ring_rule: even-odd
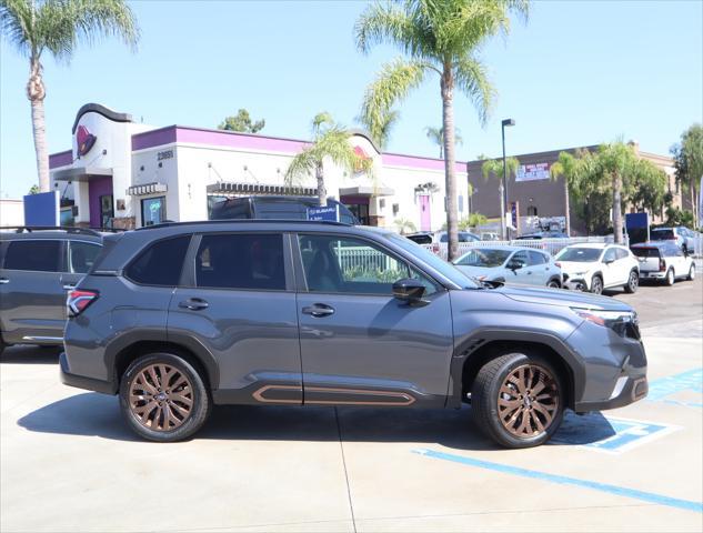
[[[169,374],[167,372],[167,385],[164,385],[163,395],[161,394],[161,388],[157,389],[160,398],[157,398],[155,393],[150,394],[147,389],[143,389],[142,392],[144,394],[135,396],[142,398],[141,401],[143,402],[143,405],[130,405],[130,391],[134,391],[133,386],[149,386],[152,390],[155,389],[153,386],[153,381],[149,382],[147,385],[140,385],[141,381],[137,381],[143,379],[144,374],[142,374],[142,372],[148,372],[150,368],[173,370],[177,372],[175,381],[173,380],[173,374]],[[159,370],[157,370],[157,373],[159,379],[163,378]],[[181,380],[178,374],[185,380],[187,384],[181,385],[182,389],[177,391],[175,385]],[[171,375],[171,379],[169,379],[169,375]],[[172,383],[172,386],[174,388],[173,391],[165,389],[169,386],[168,382]],[[169,394],[167,396],[165,392],[170,392],[172,395]],[[188,405],[187,403],[183,403],[185,401],[190,401],[191,404]],[[157,405],[151,409],[155,410],[155,413],[154,411],[150,411],[150,413],[145,415],[147,419],[149,419],[151,414],[153,414],[153,420],[142,422],[135,410],[149,410],[150,408],[148,408],[148,405],[153,403]],[[211,406],[212,402],[210,400],[210,394],[208,393],[208,389],[205,388],[205,383],[200,373],[183,358],[172,353],[150,353],[138,358],[128,366],[120,382],[120,409],[122,410],[122,415],[124,416],[127,424],[138,435],[150,441],[177,442],[188,439],[205,423],[205,420],[210,415]],[[182,415],[179,410],[184,411],[188,408],[190,408],[189,414],[187,416]],[[169,413],[168,421],[167,413]],[[177,420],[175,415],[183,418],[182,420]],[[179,422],[179,425],[173,429],[159,429],[160,423],[162,425],[165,423],[167,428],[170,428],[171,423],[175,425],[175,422]],[[148,426],[147,424],[150,424],[151,426]],[[152,429],[154,424],[155,429]]]

